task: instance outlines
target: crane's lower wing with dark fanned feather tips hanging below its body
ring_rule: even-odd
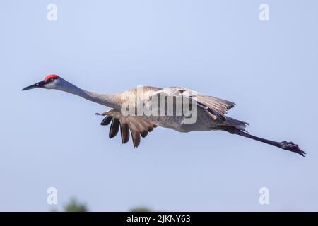
[[[121,112],[110,109],[107,112],[102,113],[106,117],[100,123],[102,126],[109,125],[110,123],[110,138],[117,135],[120,129],[120,135],[122,136],[122,143],[129,141],[129,131],[132,136],[134,148],[137,148],[140,143],[140,136],[145,138],[148,132],[153,131],[155,124],[138,116],[124,117]]]

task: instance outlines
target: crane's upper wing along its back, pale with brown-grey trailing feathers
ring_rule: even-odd
[[[190,101],[195,102],[198,107],[204,109],[204,112],[210,115],[213,120],[220,119],[221,121],[226,120],[225,114],[228,112],[228,109],[231,109],[235,105],[234,102],[228,100],[222,100],[179,87],[164,88],[155,92],[154,95],[187,97]]]

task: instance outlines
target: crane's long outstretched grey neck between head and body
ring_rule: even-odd
[[[85,98],[86,100],[96,102],[100,105],[105,105],[107,107],[112,108],[120,108],[116,101],[116,95],[114,94],[93,93],[90,91],[82,90],[81,88],[78,88],[76,85],[73,85],[72,83],[69,83],[68,81],[64,80],[63,78],[59,79],[61,80],[61,84],[58,88],[56,88],[57,90],[78,95],[80,97]]]

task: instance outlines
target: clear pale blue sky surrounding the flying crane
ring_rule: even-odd
[[[57,21],[47,20],[47,4]],[[269,21],[259,5],[269,4]],[[317,1],[6,1],[1,4],[0,210],[318,210]],[[105,107],[26,85],[57,73],[86,90],[183,86],[237,103],[247,130],[155,129],[110,140]],[[57,206],[47,188],[57,188]],[[269,188],[269,205],[259,188]]]

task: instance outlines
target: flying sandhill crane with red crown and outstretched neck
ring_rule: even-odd
[[[247,131],[245,131],[245,126],[247,126],[246,122],[225,116],[228,109],[232,109],[235,103],[222,100],[217,97],[195,93],[189,89],[177,87],[156,88],[146,86],[143,87],[143,93],[141,95],[138,93],[137,88],[121,93],[100,94],[78,88],[76,85],[73,85],[60,76],[54,74],[46,76],[45,80],[25,87],[23,90],[30,90],[33,88],[61,90],[67,93],[78,95],[100,105],[105,105],[112,108],[107,112],[100,114],[105,116],[101,122],[101,125],[111,124],[109,133],[110,138],[116,136],[120,129],[122,143],[127,143],[129,141],[130,131],[135,148],[138,147],[140,143],[140,136],[144,138],[147,136],[148,132],[151,132],[156,126],[163,126],[165,128],[174,129],[175,131],[179,132],[211,130],[227,131],[228,133],[237,134],[246,138],[252,138],[253,140],[261,141],[263,143],[267,143],[284,150],[290,150],[294,153],[305,156],[305,152],[300,150],[299,146],[293,142],[269,141],[247,133]],[[186,100],[189,100],[189,102],[196,107],[196,121],[193,123],[184,123],[185,119],[188,117],[185,114],[123,114],[123,105],[128,102],[128,100],[139,100],[142,106],[146,107],[147,102],[145,98],[155,97],[157,95],[163,95],[164,97],[182,97]],[[173,105],[176,105],[175,102],[172,103]]]

